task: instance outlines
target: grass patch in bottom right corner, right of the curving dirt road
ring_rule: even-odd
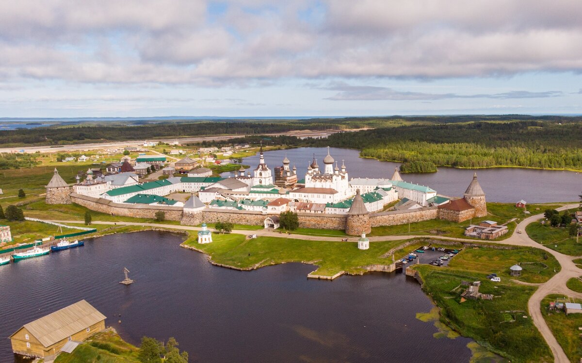
[[[563,311],[549,311],[548,305],[563,295],[548,295],[542,302],[540,309],[544,319],[552,330],[553,336],[570,359],[570,362],[579,362],[582,358],[582,344],[580,343],[580,329],[582,327],[582,314],[566,315]],[[572,302],[581,302],[580,300]]]

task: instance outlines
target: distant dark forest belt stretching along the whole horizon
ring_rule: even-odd
[[[519,121],[519,122],[515,122]],[[144,121],[145,122],[145,121]],[[151,121],[148,121],[151,122]],[[124,124],[107,122],[81,122],[79,125],[59,125],[33,129],[15,129],[0,131],[0,145],[32,146],[32,145],[66,145],[72,143],[88,143],[115,140],[145,140],[155,138],[180,138],[186,136],[204,135],[261,135],[264,133],[288,132],[294,130],[347,130],[359,128],[395,129],[404,133],[403,138],[422,131],[425,128],[444,129],[438,132],[450,135],[453,128],[461,131],[464,126],[479,125],[487,129],[487,125],[515,125],[522,123],[533,127],[543,125],[582,123],[582,117],[562,116],[530,116],[530,115],[463,115],[463,116],[391,116],[391,117],[347,117],[347,118],[311,118],[311,119],[228,119],[215,121],[159,121],[155,124],[140,124],[140,120]],[[542,125],[542,126],[540,126]],[[509,129],[512,126],[505,126]],[[381,131],[378,138],[385,138],[388,132]],[[350,134],[351,135],[351,134]],[[365,134],[369,135],[369,134]],[[502,141],[503,138],[497,139]],[[505,138],[505,140],[512,140]],[[380,140],[378,140],[380,141]],[[426,139],[427,142],[441,140]],[[342,140],[338,139],[338,143]]]

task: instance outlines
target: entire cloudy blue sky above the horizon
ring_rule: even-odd
[[[3,0],[0,117],[582,114],[579,0]]]

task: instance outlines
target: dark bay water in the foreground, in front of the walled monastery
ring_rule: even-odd
[[[108,235],[0,266],[0,361],[13,359],[6,337],[20,326],[80,299],[130,343],[176,337],[190,362],[470,359],[470,339],[436,339],[437,328],[416,319],[434,305],[402,273],[308,280],[314,266],[299,263],[240,272],[180,248],[182,239],[153,231]],[[118,283],[123,267],[136,283]]]

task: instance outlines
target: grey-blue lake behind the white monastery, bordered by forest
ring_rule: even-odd
[[[330,149],[331,156],[342,165],[345,160],[346,170],[351,178],[391,178],[394,168],[400,163],[378,161],[370,158],[360,158],[359,151],[350,149]],[[291,166],[297,166],[299,179],[304,178],[307,166],[313,159],[318,160],[320,168],[327,155],[324,147],[301,147],[290,150],[274,150],[265,152],[265,161],[272,169],[282,165],[285,155],[291,161]],[[246,157],[243,163],[251,166],[251,171],[258,164],[259,156]],[[462,196],[473,178],[477,177],[489,202],[514,203],[520,199],[528,203],[576,202],[582,192],[582,173],[572,171],[552,171],[523,168],[489,168],[489,169],[456,169],[438,168],[438,172],[429,174],[402,174],[404,181],[430,186],[439,194]],[[223,173],[224,176],[233,173]]]

